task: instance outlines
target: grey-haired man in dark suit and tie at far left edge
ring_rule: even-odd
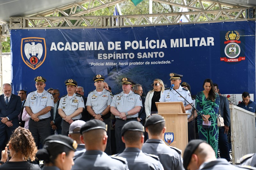
[[[10,139],[12,132],[19,126],[18,115],[21,109],[20,96],[12,94],[10,84],[3,84],[3,93],[0,96],[0,146],[4,150],[5,142]]]

